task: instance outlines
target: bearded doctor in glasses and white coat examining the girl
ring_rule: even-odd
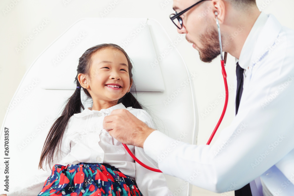
[[[168,151],[159,169],[183,180],[196,170],[195,186],[245,196],[288,195],[294,190],[294,31],[260,12],[255,0],[174,0],[173,9],[178,33],[186,34],[204,62],[220,54],[218,13],[223,51],[236,59],[235,118],[213,145],[172,146],[174,139],[123,109],[106,116],[104,128],[155,161]]]

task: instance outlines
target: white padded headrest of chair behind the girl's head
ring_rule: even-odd
[[[114,25],[115,24],[115,25]],[[75,90],[78,58],[92,46],[115,43],[133,62],[133,81],[137,91],[165,90],[147,19],[81,19],[62,34],[35,62],[44,78],[43,89]],[[163,51],[164,53],[164,51]],[[69,74],[64,74],[65,72]]]

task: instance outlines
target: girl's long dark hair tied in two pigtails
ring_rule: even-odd
[[[49,133],[46,137],[43,149],[42,149],[41,158],[40,158],[40,162],[39,162],[39,168],[43,168],[43,163],[45,160],[46,160],[46,164],[49,164],[49,167],[51,167],[51,162],[53,161],[53,158],[54,158],[55,149],[56,149],[56,147],[60,148],[60,146],[61,146],[61,141],[62,141],[62,138],[64,135],[66,125],[69,121],[69,118],[76,113],[81,113],[81,110],[85,109],[82,104],[82,101],[81,101],[81,88],[83,88],[83,87],[78,82],[78,74],[82,73],[82,74],[86,74],[87,76],[90,76],[92,55],[94,53],[96,53],[97,51],[100,51],[102,49],[107,49],[107,48],[118,49],[121,52],[123,52],[123,54],[126,56],[126,59],[128,61],[128,71],[129,71],[130,80],[133,78],[133,74],[132,74],[133,65],[131,63],[131,60],[128,57],[127,53],[120,46],[118,46],[116,44],[112,44],[112,43],[100,44],[100,45],[94,46],[94,47],[86,50],[86,52],[83,53],[83,55],[79,58],[78,68],[76,70],[77,75],[76,75],[76,78],[74,81],[74,83],[76,83],[76,86],[80,87],[80,88],[76,88],[74,94],[66,100],[67,104],[66,104],[61,116],[59,118],[57,118],[57,120],[51,126]],[[87,98],[90,99],[91,95],[87,91],[87,89],[83,88],[83,91],[87,95]],[[132,92],[136,94],[136,87],[135,87],[134,83],[132,84]],[[125,96],[120,98],[118,100],[118,103],[123,103],[123,105],[125,107],[133,107],[133,108],[137,108],[137,109],[143,109],[142,105],[131,94],[131,92],[126,93]]]

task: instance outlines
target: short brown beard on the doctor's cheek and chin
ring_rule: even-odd
[[[200,35],[200,40],[202,42],[202,48],[198,47],[200,60],[210,63],[213,59],[220,55],[218,31],[212,27],[207,28],[206,33]]]

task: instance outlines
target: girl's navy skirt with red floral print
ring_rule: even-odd
[[[54,165],[39,195],[142,196],[136,181],[108,164]]]

